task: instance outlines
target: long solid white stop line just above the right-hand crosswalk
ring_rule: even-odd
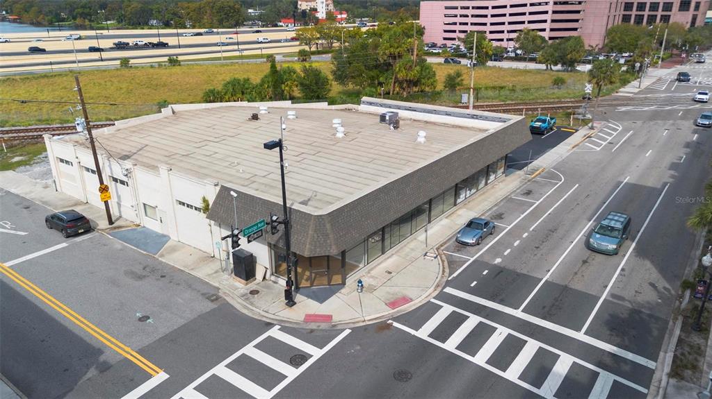
[[[506,313],[507,315],[511,315],[514,317],[518,317],[519,319],[523,319],[526,322],[530,322],[532,324],[536,324],[540,327],[544,327],[546,329],[550,329],[553,332],[558,332],[560,334],[564,334],[567,337],[571,337],[574,339],[578,339],[579,341],[585,342],[586,344],[589,344],[591,346],[595,346],[598,349],[602,349],[604,351],[610,352],[612,354],[621,356],[625,359],[628,359],[630,361],[634,361],[637,364],[642,364],[643,366],[646,366],[647,368],[655,369],[655,362],[651,361],[649,359],[645,359],[643,356],[634,354],[632,352],[626,351],[625,349],[621,349],[617,346],[613,346],[611,344],[608,344],[607,342],[601,341],[600,339],[596,339],[594,337],[590,337],[585,334],[581,334],[581,332],[574,331],[572,329],[562,327],[559,324],[555,324],[553,322],[550,322],[545,319],[540,319],[539,317],[532,316],[528,313],[521,312],[520,310],[515,310],[512,309],[511,307],[502,305],[500,303],[492,302],[491,300],[486,300],[484,298],[471,295],[468,293],[463,293],[460,290],[455,290],[454,288],[446,287],[443,289],[444,293],[449,293],[450,295],[455,295],[456,297],[461,297],[466,300],[469,300],[471,302],[475,302],[479,305],[483,305],[486,307],[490,307],[491,309],[498,310],[499,312]],[[444,302],[441,302],[436,299],[431,299],[430,302],[434,302],[438,305],[447,305]],[[451,305],[447,305],[451,306]],[[457,310],[457,312],[461,312],[463,314],[467,314],[467,312]],[[491,322],[488,322],[491,324]],[[548,348],[547,348],[548,349]]]

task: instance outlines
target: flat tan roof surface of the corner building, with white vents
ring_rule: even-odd
[[[303,104],[302,104],[303,106]],[[263,143],[280,137],[285,119],[287,197],[293,207],[319,213],[337,207],[417,170],[443,155],[486,136],[484,127],[456,126],[401,116],[400,129],[379,123],[379,112],[352,109],[270,106],[258,121],[249,120],[258,107],[229,105],[175,111],[153,120],[95,132],[119,160],[158,170],[168,165],[177,173],[217,180],[236,190],[281,202],[277,150]],[[345,137],[336,138],[333,119],[341,119]],[[433,119],[431,117],[431,119]],[[453,118],[441,118],[451,120]],[[417,133],[426,142],[417,143]],[[88,147],[81,138],[65,140]],[[104,152],[101,146],[98,151]]]

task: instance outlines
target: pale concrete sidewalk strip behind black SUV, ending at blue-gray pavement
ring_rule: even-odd
[[[87,217],[92,222],[93,228],[98,231],[113,231],[134,226],[134,223],[130,220],[123,219],[117,215],[112,215],[114,223],[110,226],[103,208],[85,203],[63,192],[58,192],[51,182],[34,180],[21,173],[16,173],[14,170],[0,172],[0,187],[48,207],[54,212],[74,209]]]

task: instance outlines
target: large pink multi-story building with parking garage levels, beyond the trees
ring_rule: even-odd
[[[469,31],[481,31],[494,44],[510,47],[517,33],[529,28],[548,40],[580,35],[587,46],[601,46],[617,23],[701,26],[708,8],[709,0],[422,1],[420,23],[426,42],[456,43]]]

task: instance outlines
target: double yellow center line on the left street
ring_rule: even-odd
[[[79,327],[82,327],[85,329],[86,332],[89,334],[92,334],[95,338],[99,339],[102,341],[104,344],[109,346],[111,349],[114,349],[117,351],[119,354],[124,356],[126,359],[129,359],[130,361],[134,362],[141,368],[143,368],[147,373],[151,374],[152,376],[156,376],[158,373],[160,373],[162,370],[152,364],[150,361],[147,361],[144,359],[142,356],[137,354],[135,351],[130,349],[128,346],[122,344],[120,341],[117,341],[114,337],[111,337],[109,334],[103,332],[99,327],[96,327],[94,324],[91,324],[88,322],[86,319],[75,313],[73,310],[71,310],[69,307],[64,305],[62,302],[59,302],[56,300],[54,297],[46,293],[45,291],[41,290],[41,288],[38,288],[36,285],[31,283],[29,280],[26,278],[23,278],[19,273],[17,273],[15,270],[12,270],[8,266],[6,266],[4,263],[0,263],[0,272],[2,272],[4,275],[7,275],[9,278],[14,280],[15,283],[18,283],[22,288],[25,288],[28,290],[29,293],[32,295],[35,295],[39,299],[41,299],[43,302],[45,302],[47,305],[50,305],[54,310],[57,312],[60,312],[61,315],[64,317],[70,319],[72,322],[77,324]]]

